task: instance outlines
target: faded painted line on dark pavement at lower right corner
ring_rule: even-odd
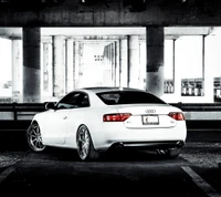
[[[192,180],[209,196],[209,197],[221,197],[221,195],[203,178],[201,178],[197,173],[194,173],[190,167],[181,167]]]

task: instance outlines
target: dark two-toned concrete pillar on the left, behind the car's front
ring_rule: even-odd
[[[23,103],[41,102],[41,31],[23,28]]]

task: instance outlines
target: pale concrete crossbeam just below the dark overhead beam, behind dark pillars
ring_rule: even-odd
[[[182,35],[208,35],[220,28],[214,27],[172,27],[165,28],[166,39],[177,39]],[[146,28],[41,28],[42,38],[51,35],[65,35],[71,38],[102,40],[138,34],[145,39]],[[22,28],[0,28],[0,37],[22,39]]]

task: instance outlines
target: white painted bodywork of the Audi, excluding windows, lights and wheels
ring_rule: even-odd
[[[76,148],[76,132],[82,124],[87,126],[95,149],[107,149],[117,142],[141,145],[145,142],[186,141],[186,121],[176,121],[168,115],[181,112],[177,107],[169,104],[106,105],[96,95],[99,89],[76,91],[88,95],[91,106],[49,110],[34,115],[32,121],[39,123],[44,145]],[[152,112],[158,116],[159,125],[143,125],[143,116],[152,115]],[[112,113],[130,113],[131,116],[125,122],[103,122],[103,115]]]

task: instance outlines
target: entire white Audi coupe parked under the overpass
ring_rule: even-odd
[[[175,158],[186,143],[182,111],[158,96],[129,87],[85,87],[70,92],[33,116],[29,146],[74,148],[94,160],[110,148],[156,149]]]

